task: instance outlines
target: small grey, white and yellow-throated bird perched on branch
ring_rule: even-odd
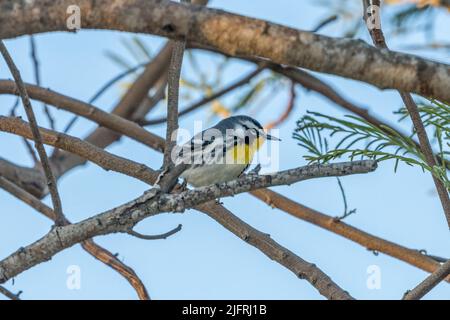
[[[178,146],[175,165],[186,164],[180,177],[193,187],[237,179],[266,140],[281,141],[245,115],[231,116]]]

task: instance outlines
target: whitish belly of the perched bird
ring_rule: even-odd
[[[181,177],[193,187],[202,187],[234,180],[246,167],[246,164],[210,164],[188,169]]]

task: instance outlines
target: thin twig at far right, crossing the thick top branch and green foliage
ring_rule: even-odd
[[[380,0],[363,0],[363,8],[364,8],[364,21],[368,21],[369,19],[369,8],[370,6],[376,6],[381,8]],[[389,50],[386,40],[383,35],[383,30],[381,29],[381,16],[380,10],[373,10],[370,14],[374,15],[374,19],[377,22],[374,24],[372,28],[368,27],[368,31],[373,40],[374,45],[380,49]],[[377,28],[377,24],[380,26]],[[417,137],[419,138],[420,149],[425,156],[425,160],[427,164],[434,168],[437,166],[436,158],[433,153],[433,149],[431,148],[430,140],[428,139],[427,132],[425,130],[425,126],[423,125],[422,118],[420,117],[419,109],[414,102],[411,94],[408,92],[399,91],[400,96],[405,103],[406,109],[411,117],[411,120],[414,125],[414,129],[416,131]],[[447,189],[444,186],[444,183],[436,177],[434,173],[432,173],[433,181],[436,186],[436,190],[438,192],[439,198],[441,200],[442,208],[444,210],[445,217],[447,219],[448,227],[450,228],[450,198]]]

